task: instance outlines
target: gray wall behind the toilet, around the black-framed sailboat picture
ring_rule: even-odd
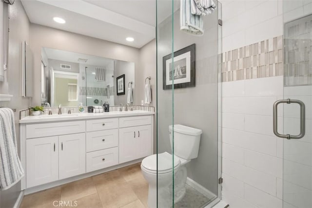
[[[179,10],[174,14],[174,51],[196,44],[196,87],[162,89],[162,57],[171,53],[171,17],[158,25],[158,152],[171,151],[168,126],[174,123],[203,131],[198,157],[188,165],[188,176],[217,194],[217,12],[205,17],[204,35],[196,37],[180,31]],[[173,104],[174,100],[174,104]]]

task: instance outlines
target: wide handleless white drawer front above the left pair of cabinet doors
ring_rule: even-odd
[[[85,129],[86,129],[85,121],[27,124],[26,138],[81,133],[85,132]]]

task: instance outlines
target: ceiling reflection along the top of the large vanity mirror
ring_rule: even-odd
[[[62,51],[52,48],[43,48],[47,58],[55,59],[60,61],[69,61],[73,63],[80,63],[85,65],[93,65],[93,66],[108,66],[109,64],[113,64],[113,59],[96,57],[86,54],[78,54],[69,51]],[[79,62],[78,58],[88,59],[87,62]]]

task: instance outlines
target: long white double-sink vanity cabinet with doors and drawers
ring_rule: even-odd
[[[21,161],[26,170],[22,189],[33,192],[58,186],[73,176],[114,170],[153,154],[153,114],[72,116],[72,120],[47,122],[34,122],[30,116],[31,121],[20,122]]]

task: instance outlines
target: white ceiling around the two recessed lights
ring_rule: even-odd
[[[21,1],[32,23],[136,48],[155,38],[156,0]],[[171,14],[171,0],[158,0],[157,5],[161,22]],[[54,17],[65,19],[66,23],[59,24]],[[135,41],[128,42],[127,37]]]

